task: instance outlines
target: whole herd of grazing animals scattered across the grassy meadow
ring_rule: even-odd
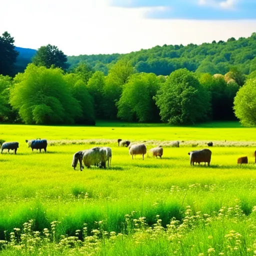
[[[25,142],[28,144],[28,147],[30,147],[33,151],[33,149],[36,149],[41,152],[41,149],[46,152],[46,147],[47,147],[47,140],[46,139],[30,139],[30,140],[25,140]],[[144,154],[146,153],[146,146],[145,144],[135,144],[135,143],[130,143],[129,140],[122,140],[118,139],[118,146],[125,146],[128,147],[129,149],[129,154],[131,155],[133,159],[133,155],[139,155],[142,154],[142,159],[144,159]],[[208,146],[213,146],[212,142],[207,143]],[[174,141],[171,143],[171,146],[174,147],[179,147],[179,141]],[[1,153],[4,149],[8,150],[13,150],[13,153],[16,154],[18,148],[18,142],[3,142],[1,145]],[[152,153],[152,156],[159,156],[160,158],[162,157],[163,154],[163,148],[162,146],[157,146],[154,148],[151,148],[149,150]],[[200,164],[201,162],[204,162],[204,165],[208,163],[208,166],[210,165],[210,160],[211,160],[211,151],[207,148],[200,149],[200,150],[192,150],[188,152],[188,155],[190,156],[190,165],[194,165],[194,163]],[[256,163],[256,151],[254,152],[255,156],[255,163]],[[112,150],[110,147],[92,147],[90,149],[86,150],[80,150],[73,155],[73,160],[72,160],[72,167],[75,169],[77,166],[77,163],[79,161],[80,164],[80,170],[82,170],[83,164],[89,168],[91,165],[98,166],[99,168],[106,168],[106,163],[107,166],[109,167],[111,165],[111,158],[112,158]],[[248,158],[247,156],[239,157],[237,159],[237,164],[242,164],[242,163],[248,163]]]

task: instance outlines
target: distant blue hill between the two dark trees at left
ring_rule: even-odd
[[[21,47],[15,47],[15,50],[19,52],[14,67],[15,73],[23,72],[27,64],[31,62],[32,57],[36,53],[36,50]]]

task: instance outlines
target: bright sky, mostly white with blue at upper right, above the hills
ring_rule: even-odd
[[[256,32],[256,0],[5,0],[4,31],[16,46],[67,55],[200,44]]]

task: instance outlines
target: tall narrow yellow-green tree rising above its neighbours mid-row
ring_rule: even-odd
[[[117,61],[109,70],[103,86],[103,109],[106,118],[116,118],[116,102],[120,99],[123,85],[133,72],[134,68],[127,60]]]

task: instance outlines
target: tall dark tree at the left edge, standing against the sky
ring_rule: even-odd
[[[13,43],[14,39],[7,31],[0,36],[0,74],[13,74],[14,63],[18,56]]]

